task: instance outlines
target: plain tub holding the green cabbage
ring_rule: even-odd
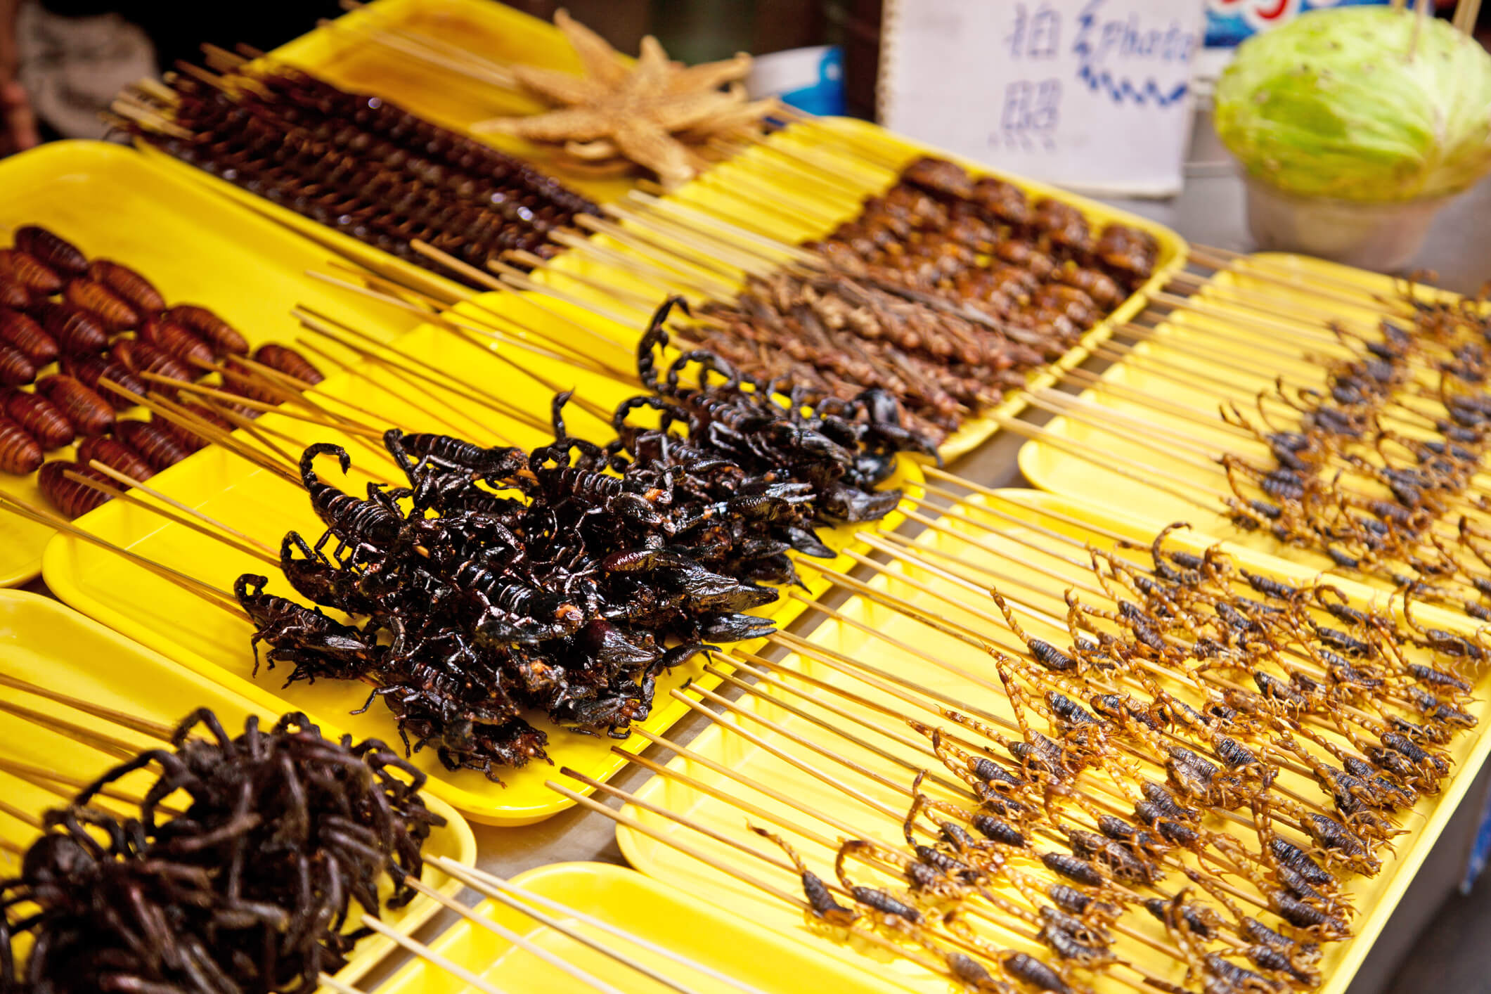
[[[1302,252],[1364,270],[1391,273],[1418,255],[1439,209],[1454,197],[1363,204],[1296,197],[1243,176],[1248,229],[1260,250]]]

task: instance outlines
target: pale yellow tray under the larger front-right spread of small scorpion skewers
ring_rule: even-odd
[[[1008,499],[1005,499],[1008,496]],[[984,504],[983,499],[977,504]],[[1050,510],[1053,513],[1066,516],[1081,516],[1094,520],[1102,520],[1105,528],[1114,528],[1114,523],[1105,520],[1103,513],[1097,508],[1085,505],[1079,501],[1072,501],[1054,495],[1044,495],[1030,490],[1005,490],[1000,492],[1000,498],[992,501],[999,510],[1015,514],[1021,520],[1032,525],[1039,525],[1050,531],[1057,531],[1065,535],[1074,535],[1084,541],[1091,541],[1097,547],[1111,547],[1111,542],[1102,538],[1096,532],[1088,532],[1081,528],[1072,528],[1056,519],[1044,517],[1039,508]],[[1029,510],[1030,505],[1038,510]],[[992,519],[984,519],[992,520]],[[968,526],[960,525],[953,519],[944,519],[944,523],[960,532],[971,534]],[[1117,526],[1118,531],[1129,532],[1127,525]],[[929,548],[941,548],[945,551],[954,551],[959,556],[975,559],[980,562],[987,562],[989,565],[999,569],[1003,580],[997,581],[999,586],[1011,593],[1020,592],[1021,587],[1036,587],[1042,592],[1062,596],[1062,592],[1069,586],[1068,577],[1075,575],[1071,566],[1062,566],[1054,559],[1044,557],[1033,553],[1029,547],[1020,545],[1005,535],[1024,538],[1033,541],[1042,547],[1062,548],[1065,554],[1071,554],[1069,547],[1060,547],[1054,539],[1044,538],[1033,531],[1027,531],[1018,526],[1009,526],[1006,532],[1000,536],[990,536],[987,532],[977,532],[978,538],[997,551],[989,551],[977,545],[965,542],[962,538],[939,535],[936,532],[927,531],[918,536],[918,542]],[[1194,534],[1173,532],[1173,542],[1176,545],[1187,545],[1193,551],[1200,550],[1202,545]],[[1257,554],[1245,554],[1246,563],[1267,575],[1282,578],[1285,581],[1303,581],[1312,577],[1306,569],[1297,565],[1285,563],[1279,560],[1267,560],[1266,557]],[[1059,572],[1063,580],[1054,580],[1033,569],[1032,566],[1045,568]],[[966,590],[954,589],[945,581],[941,581],[921,569],[902,571],[896,569],[899,575],[908,575],[921,583],[930,584],[939,590],[951,590],[956,596],[966,602],[978,602],[975,595]],[[990,583],[996,583],[990,580]],[[1011,648],[1017,645],[1014,636],[1005,629],[1003,623],[993,624],[987,621],[978,621],[974,615],[959,610],[951,608],[947,604],[932,598],[930,595],[921,593],[901,580],[889,580],[887,577],[877,577],[871,581],[871,586],[877,590],[889,590],[896,596],[910,599],[915,604],[923,605],[926,610],[932,611],[941,618],[948,618],[953,621],[965,623],[978,627],[981,632],[987,632],[990,644],[996,647]],[[1363,604],[1370,599],[1372,593],[1360,586],[1342,583],[1339,584],[1355,604]],[[1379,596],[1379,601],[1382,598]],[[990,612],[997,614],[992,601],[983,602],[983,607]],[[977,674],[984,680],[997,680],[992,659],[981,650],[975,650],[960,641],[950,636],[939,635],[930,629],[908,620],[905,615],[893,612],[887,608],[872,604],[866,598],[856,596],[851,598],[842,608],[842,612],[850,618],[862,621],[878,632],[884,632],[892,638],[901,639],[915,645],[918,650],[933,653],[938,657],[951,662],[956,666],[963,668],[968,672]],[[1422,618],[1418,618],[1418,611],[1415,610],[1415,618],[1424,624],[1443,626],[1454,630],[1467,630],[1467,623],[1458,615],[1452,615],[1443,611],[1434,611],[1434,620],[1430,621],[1430,608],[1424,608]],[[1048,638],[1056,641],[1053,636],[1053,629],[1033,621],[1030,618],[1021,617],[1021,624],[1026,627],[1029,635],[1035,638]],[[1065,629],[1060,629],[1059,638],[1069,638],[1065,635]],[[923,686],[933,687],[942,693],[953,694],[956,699],[968,700],[969,706],[981,706],[990,711],[1000,712],[1009,717],[1008,702],[1003,694],[993,693],[986,688],[980,688],[969,681],[951,675],[948,671],[935,668],[927,662],[895,650],[893,647],[881,642],[877,638],[866,636],[865,633],[856,630],[854,627],[839,623],[826,621],[817,627],[808,641],[835,651],[845,653],[859,659],[865,659],[872,665],[892,671],[908,680],[917,681]],[[845,678],[838,675],[835,671],[816,663],[810,659],[801,656],[790,657],[789,665],[795,669],[816,677],[823,681],[833,684],[845,683]],[[787,678],[792,683],[792,678]],[[853,683],[853,681],[848,681]],[[1488,751],[1491,751],[1491,736],[1485,735],[1487,720],[1491,718],[1491,699],[1488,699],[1487,684],[1491,683],[1491,677],[1484,675],[1479,686],[1479,694],[1470,711],[1479,717],[1481,724],[1478,729],[1467,735],[1457,738],[1448,748],[1451,757],[1455,763],[1455,772],[1445,782],[1443,791],[1436,797],[1424,799],[1415,808],[1416,815],[1402,818],[1403,827],[1410,830],[1410,835],[1397,839],[1397,855],[1384,854],[1384,869],[1375,878],[1352,878],[1346,884],[1346,891],[1354,899],[1354,906],[1358,909],[1358,917],[1355,919],[1355,937],[1349,942],[1333,943],[1325,948],[1325,957],[1321,963],[1321,973],[1325,978],[1325,984],[1321,988],[1324,994],[1340,994],[1346,990],[1351,982],[1352,975],[1361,964],[1363,957],[1367,954],[1378,933],[1385,925],[1387,919],[1393,914],[1394,906],[1402,899],[1403,891],[1409,885],[1418,866],[1422,863],[1424,857],[1433,848],[1434,841],[1439,838],[1449,817],[1455,811],[1455,806],[1464,797],[1470,784],[1476,778],[1476,772],[1485,762]],[[802,686],[802,684],[799,684]],[[883,703],[898,706],[905,711],[905,705],[899,705],[895,699],[881,694],[880,691],[869,690],[863,684],[854,683],[854,690],[872,697]],[[790,700],[798,706],[804,706],[804,702],[798,697],[781,694],[778,696]],[[842,754],[851,756],[856,762],[874,769],[896,782],[904,782],[910,785],[911,773],[899,766],[886,762],[868,751],[860,750],[836,736],[829,736],[820,729],[813,727],[808,721],[798,718],[792,714],[784,712],[781,708],[772,703],[762,703],[751,696],[741,697],[740,703],[751,714],[760,714],[772,721],[780,723],[789,732],[804,735],[811,741],[825,742],[832,750]],[[880,717],[878,714],[869,711],[868,708],[860,708],[853,703],[847,703],[841,699],[833,699],[835,705],[845,708],[857,715],[868,717],[878,724],[886,724],[889,720]],[[823,715],[820,712],[820,717]],[[1042,727],[1039,718],[1032,717],[1036,721],[1036,727]],[[950,724],[947,721],[930,720],[930,724]],[[854,788],[863,791],[869,797],[878,800],[880,803],[889,806],[892,811],[905,811],[907,797],[896,791],[892,791],[880,784],[875,784],[866,778],[856,776],[844,770],[844,767],[836,763],[830,763],[820,757],[813,756],[804,747],[796,745],[777,732],[763,729],[750,720],[731,718],[731,724],[740,724],[762,736],[766,742],[771,742],[789,753],[799,757],[808,759],[819,769],[828,769],[841,779],[850,782]],[[835,720],[839,727],[851,727],[856,733],[865,733],[863,729],[853,727],[850,723],[842,720]],[[905,732],[905,729],[901,729]],[[886,745],[890,751],[910,759],[921,767],[926,760],[917,753],[904,750],[899,745],[889,744],[878,736],[872,736],[877,744]],[[862,806],[848,800],[838,790],[822,784],[820,781],[808,776],[807,773],[789,766],[780,759],[772,757],[765,750],[746,742],[741,736],[735,733],[726,733],[719,726],[711,726],[705,729],[698,738],[695,738],[689,747],[696,753],[713,759],[717,763],[728,766],[732,770],[751,776],[783,794],[801,799],[811,805],[813,808],[836,817],[850,826],[853,826],[862,838],[875,838],[886,841],[893,845],[899,845],[902,841],[902,832],[899,824],[899,817],[889,818],[877,814],[871,808]],[[675,757],[669,767],[678,770],[687,776],[692,776],[704,784],[720,788],[731,797],[741,797],[750,803],[765,808],[771,812],[780,814],[787,820],[810,827],[830,839],[839,839],[841,833],[832,826],[817,823],[813,818],[792,811],[786,805],[781,805],[765,794],[759,794],[744,785],[740,785],[728,778],[723,778],[702,763],[686,760],[683,757]],[[935,773],[942,773],[941,766],[933,765]],[[1285,770],[1281,773],[1281,782],[1287,782],[1291,787],[1299,788],[1299,778]],[[947,796],[936,785],[926,785],[924,790],[932,796]],[[734,805],[722,803],[702,791],[696,791],[690,787],[684,787],[677,781],[666,779],[663,776],[655,776],[649,779],[638,791],[640,797],[644,800],[665,808],[672,812],[678,812],[695,823],[701,823],[720,835],[743,842],[760,851],[775,855],[775,846],[765,845],[760,839],[750,835],[746,830],[746,815]],[[1311,790],[1314,796],[1315,790]],[[689,845],[713,854],[728,863],[732,863],[747,872],[756,875],[759,879],[774,884],[775,887],[786,890],[789,893],[799,893],[801,885],[796,878],[784,872],[777,870],[759,860],[748,858],[734,849],[729,849],[717,842],[713,842],[699,833],[681,829],[678,824],[668,821],[666,818],[640,809],[637,806],[628,806],[626,814],[638,818],[649,827],[658,829],[669,836],[675,836]],[[1220,818],[1209,818],[1209,827],[1217,830],[1236,830],[1232,823],[1224,823]],[[832,878],[832,852],[810,839],[783,832],[783,835],[799,849],[799,852],[807,858],[810,867],[813,867],[820,876]],[[655,876],[659,881],[672,885],[680,890],[686,890],[690,894],[696,894],[704,900],[710,900],[716,905],[725,908],[738,909],[740,914],[751,917],[754,921],[760,922],[763,927],[774,928],[784,934],[795,936],[804,943],[823,951],[828,957],[859,963],[862,966],[871,966],[877,973],[887,979],[904,984],[905,987],[917,991],[941,991],[947,990],[947,981],[942,978],[933,978],[920,967],[908,964],[905,961],[896,963],[869,963],[860,952],[842,945],[833,937],[825,937],[820,928],[810,927],[805,924],[804,917],[781,905],[780,902],[750,888],[732,878],[726,878],[707,867],[705,864],[693,860],[692,857],[684,857],[675,849],[668,848],[650,839],[635,830],[620,827],[617,830],[617,841],[622,846],[622,852],[637,869],[643,870],[649,876]],[[1246,839],[1249,848],[1257,848],[1257,839]],[[1051,848],[1051,846],[1044,846]],[[851,872],[856,882],[866,882],[875,885],[874,873],[859,863],[851,861]],[[881,878],[883,885],[904,887],[902,879]],[[1179,879],[1179,875],[1172,873],[1170,882]],[[1126,921],[1142,931],[1151,934],[1156,939],[1163,939],[1163,928],[1159,922],[1153,921],[1145,914],[1126,915]],[[1021,945],[1021,942],[1008,934],[999,934],[994,928],[980,922],[980,933],[986,936],[994,936],[994,940],[1000,945],[1008,945],[1011,948],[1024,948],[1029,952],[1036,949]],[[1135,963],[1147,970],[1154,972],[1161,979],[1170,982],[1181,982],[1184,975],[1184,966],[1172,960],[1159,957],[1159,954],[1150,952],[1147,948],[1136,946],[1133,943],[1124,943],[1126,951],[1136,952]],[[1048,954],[1047,954],[1048,955]],[[1118,984],[1100,979],[1094,990],[1097,991],[1121,991],[1130,990],[1120,987]]]

